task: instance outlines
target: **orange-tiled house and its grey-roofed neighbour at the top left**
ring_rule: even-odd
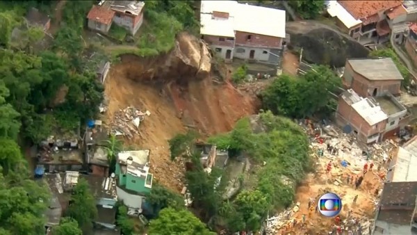
[[[87,15],[88,28],[108,33],[114,23],[135,35],[143,23],[144,6],[143,1],[100,1]]]

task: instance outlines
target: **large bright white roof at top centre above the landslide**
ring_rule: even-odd
[[[204,15],[211,14],[213,11],[229,13],[229,18],[233,18],[234,31],[269,35],[277,38],[286,37],[285,10],[252,6],[249,4],[238,3],[237,1],[202,1],[200,9],[201,19],[206,19]],[[213,24],[213,26],[211,26],[211,24]],[[231,23],[228,22],[226,24]],[[210,35],[218,35],[216,33],[217,31],[215,31],[216,25],[219,25],[219,22],[215,20],[203,20],[202,30],[213,32],[213,34]],[[221,29],[222,27],[223,25],[218,27],[218,32],[223,33],[224,29]],[[226,31],[230,31],[230,29],[227,29]]]

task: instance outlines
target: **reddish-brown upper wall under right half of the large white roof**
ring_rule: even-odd
[[[281,48],[282,38],[236,31],[236,44],[247,47]]]

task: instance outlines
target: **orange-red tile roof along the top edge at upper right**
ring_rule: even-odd
[[[402,5],[402,1],[338,1],[355,19],[363,19]]]

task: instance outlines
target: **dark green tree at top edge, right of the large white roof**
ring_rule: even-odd
[[[316,19],[325,10],[323,0],[295,0],[288,1],[288,4],[295,10],[295,13],[304,19]]]

